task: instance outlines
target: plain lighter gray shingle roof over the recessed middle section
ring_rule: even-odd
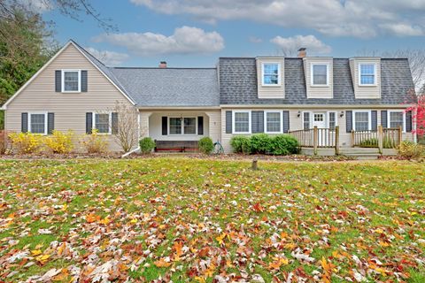
[[[217,70],[111,68],[139,106],[218,106]]]

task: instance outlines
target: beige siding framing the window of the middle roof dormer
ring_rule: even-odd
[[[307,98],[333,98],[334,71],[331,57],[305,57],[303,58],[305,70],[305,88]],[[328,65],[328,86],[313,86],[312,68],[314,64]]]

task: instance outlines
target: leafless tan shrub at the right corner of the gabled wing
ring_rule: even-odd
[[[112,109],[111,128],[118,144],[124,152],[128,152],[137,145],[138,134],[138,112],[127,103],[116,102]]]

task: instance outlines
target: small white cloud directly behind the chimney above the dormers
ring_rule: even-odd
[[[330,46],[318,40],[314,35],[296,35],[291,37],[276,36],[270,40],[276,44],[284,53],[293,55],[299,48],[305,47],[307,54],[326,54],[332,49]]]

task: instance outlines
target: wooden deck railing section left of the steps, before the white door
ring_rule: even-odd
[[[317,149],[335,148],[336,154],[339,153],[339,126],[335,129],[318,128],[290,131],[297,140],[300,148],[313,148],[314,154]]]

